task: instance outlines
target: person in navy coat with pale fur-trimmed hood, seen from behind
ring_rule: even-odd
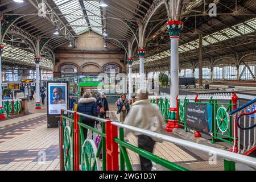
[[[82,98],[80,98],[79,100],[79,104],[77,106],[77,112],[97,117],[98,113],[97,113],[96,101],[97,101],[96,98],[92,97],[92,94],[90,92],[85,92],[82,95]],[[95,120],[82,117],[82,123],[84,123],[85,125],[94,127]],[[86,139],[88,130],[85,127],[82,127],[82,130],[84,132],[84,139]]]

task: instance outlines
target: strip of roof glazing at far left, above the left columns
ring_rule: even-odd
[[[3,59],[12,59],[15,61],[22,61],[25,64],[32,64],[35,65],[34,57],[35,55],[33,53],[30,53],[28,51],[24,51],[23,49],[13,47],[9,44],[3,43],[3,53],[2,57]],[[52,60],[46,59],[45,57],[42,57],[42,60],[40,60],[40,66],[47,67],[49,69],[53,68]]]

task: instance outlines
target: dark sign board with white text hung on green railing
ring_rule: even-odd
[[[212,130],[212,105],[191,103],[187,104],[187,127],[209,134]]]

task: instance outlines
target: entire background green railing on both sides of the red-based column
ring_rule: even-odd
[[[195,103],[198,105],[210,105],[212,113],[210,118],[212,120],[212,129],[209,133],[212,137],[212,143],[217,140],[227,142],[230,144],[234,143],[237,137],[234,137],[234,131],[237,127],[233,125],[233,117],[228,113],[237,107],[237,96],[234,94],[195,94],[187,96],[177,97],[177,125],[181,126],[185,131],[189,130],[187,125],[187,107],[189,103]],[[152,104],[158,104],[159,109],[163,117],[168,121],[170,118],[170,102],[168,98],[156,98],[150,97]],[[193,129],[196,130],[196,129]]]

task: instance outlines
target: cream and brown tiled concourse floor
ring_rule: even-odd
[[[58,129],[47,128],[46,106],[37,112],[34,101],[30,101],[28,107],[32,114],[0,122],[0,170],[59,170]],[[111,108],[114,110],[114,106]],[[118,118],[115,111],[110,112],[110,120],[118,121]],[[138,143],[133,134],[125,141],[134,146]],[[134,169],[139,169],[138,154],[130,150],[128,154]],[[206,154],[194,153],[170,142],[156,143],[154,154],[188,169],[223,169],[222,162],[209,165]]]

